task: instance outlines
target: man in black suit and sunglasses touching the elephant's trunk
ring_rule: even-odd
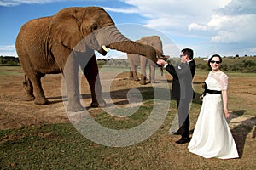
[[[181,65],[169,65],[165,60],[158,59],[158,65],[165,65],[172,79],[172,98],[177,101],[177,114],[179,129],[174,134],[181,135],[177,144],[185,144],[190,141],[189,138],[189,103],[195,98],[195,92],[192,88],[192,79],[195,75],[194,52],[190,48],[184,48],[181,51]]]

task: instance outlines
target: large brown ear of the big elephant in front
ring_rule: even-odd
[[[49,36],[54,42],[73,49],[83,39],[80,31],[81,12],[79,8],[65,8],[52,17],[49,27]]]

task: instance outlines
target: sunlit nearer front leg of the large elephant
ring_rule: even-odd
[[[79,61],[77,58],[78,56],[74,53],[70,54],[63,71],[63,78],[67,86],[67,111],[84,110],[79,98]]]

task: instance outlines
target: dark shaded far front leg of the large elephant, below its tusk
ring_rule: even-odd
[[[100,82],[99,77],[99,70],[96,62],[96,56],[95,54],[92,54],[92,57],[86,62],[84,68],[84,76],[86,77],[87,81],[89,82],[90,86],[90,93],[91,93],[91,99],[92,102],[90,104],[91,107],[103,107],[106,105],[106,102],[104,99],[102,99],[102,85]]]

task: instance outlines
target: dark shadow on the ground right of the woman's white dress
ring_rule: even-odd
[[[246,110],[233,111],[233,114],[236,117],[239,117],[239,116],[243,116],[245,112]],[[240,124],[231,130],[236,142],[236,147],[237,147],[240,158],[242,157],[242,154],[243,154],[247,135],[253,130],[253,127],[254,127],[254,131],[253,131],[252,138],[255,138],[255,133],[256,133],[255,122],[256,122],[256,117],[254,116],[246,120],[242,120],[241,122],[237,122]]]

